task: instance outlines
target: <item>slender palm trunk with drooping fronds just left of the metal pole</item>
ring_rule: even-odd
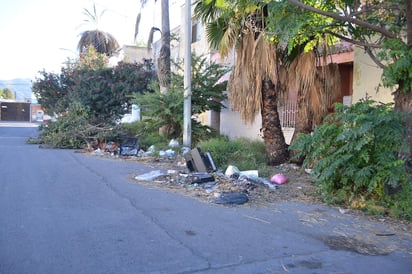
[[[156,0],[155,0],[156,1]],[[142,8],[147,0],[141,0]],[[153,33],[161,32],[161,48],[157,59],[157,76],[159,78],[160,91],[166,94],[170,86],[170,21],[169,21],[169,0],[161,0],[162,27],[161,30],[152,27],[149,35],[148,47],[153,42]],[[137,15],[135,25],[135,39],[139,34],[141,13]]]

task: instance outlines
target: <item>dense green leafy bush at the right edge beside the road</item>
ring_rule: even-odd
[[[388,190],[408,188],[408,167],[399,157],[408,155],[404,133],[404,119],[390,104],[337,104],[336,113],[313,134],[299,136],[290,149],[312,168],[326,202],[384,204],[394,199]]]

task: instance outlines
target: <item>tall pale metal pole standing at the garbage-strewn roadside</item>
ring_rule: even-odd
[[[192,147],[192,3],[185,2],[183,146]]]

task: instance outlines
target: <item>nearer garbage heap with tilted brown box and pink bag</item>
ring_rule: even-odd
[[[187,169],[153,170],[134,177],[136,181],[177,186],[195,192],[196,196],[224,205],[240,205],[249,201],[249,193],[257,188],[275,191],[287,182],[283,174],[270,180],[259,177],[257,170],[240,171],[229,165],[225,172],[217,170],[210,153],[199,148],[184,154]]]

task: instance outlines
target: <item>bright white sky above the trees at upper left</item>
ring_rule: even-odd
[[[171,28],[180,21],[177,0],[170,0]],[[76,58],[85,30],[84,9],[105,10],[99,29],[112,34],[120,46],[134,45],[134,26],[140,0],[0,0],[0,79],[35,79],[38,72],[60,72],[67,58]],[[152,26],[160,28],[160,1],[148,1],[142,11],[140,35],[146,42]]]

